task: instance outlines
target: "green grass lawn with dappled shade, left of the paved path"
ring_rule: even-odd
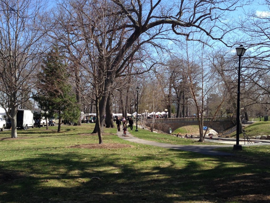
[[[131,143],[116,129],[100,146],[93,128],[1,132],[0,202],[269,202],[268,146],[206,156]]]

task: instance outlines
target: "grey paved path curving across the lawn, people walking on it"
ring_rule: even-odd
[[[135,129],[133,128],[133,130],[135,130]],[[163,148],[197,152],[197,153],[201,153],[201,154],[205,154],[205,155],[233,156],[232,153],[213,151],[213,149],[221,148],[221,147],[232,147],[233,148],[232,145],[172,145],[172,144],[167,144],[167,143],[160,143],[160,142],[153,142],[153,141],[139,139],[137,137],[132,136],[129,133],[129,131],[127,131],[127,135],[124,136],[122,129],[120,132],[117,132],[117,136],[124,139],[124,140],[130,141],[130,142],[135,142],[135,143],[140,143],[140,144],[145,144],[145,145],[153,145],[153,146],[158,146],[158,147],[163,147]]]

